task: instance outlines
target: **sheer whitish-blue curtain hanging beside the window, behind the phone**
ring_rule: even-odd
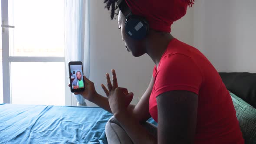
[[[89,0],[65,0],[65,61],[69,74],[70,61],[82,61],[84,75],[90,75],[89,48]],[[73,95],[81,105],[85,104],[82,95]]]

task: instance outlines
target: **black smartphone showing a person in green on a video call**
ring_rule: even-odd
[[[85,90],[83,75],[82,62],[69,62],[69,82],[71,92],[83,92]]]

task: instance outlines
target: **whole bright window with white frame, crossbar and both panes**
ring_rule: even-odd
[[[2,0],[2,24],[15,26],[2,31],[3,102],[67,104],[64,10],[63,0]]]

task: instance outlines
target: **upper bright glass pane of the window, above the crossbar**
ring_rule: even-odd
[[[64,57],[63,0],[9,0],[10,56]]]

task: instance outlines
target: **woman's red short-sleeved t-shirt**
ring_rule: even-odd
[[[244,144],[230,94],[217,70],[199,50],[172,39],[158,68],[154,67],[153,76],[149,112],[155,121],[158,95],[173,90],[194,92],[198,95],[194,144]]]

